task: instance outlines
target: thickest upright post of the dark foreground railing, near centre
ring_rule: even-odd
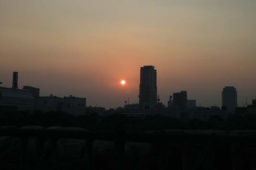
[[[114,170],[123,170],[124,168],[124,155],[125,155],[125,131],[118,129],[115,131],[115,151],[116,158],[114,164]]]

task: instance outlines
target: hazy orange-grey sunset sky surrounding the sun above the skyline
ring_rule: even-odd
[[[221,106],[256,96],[256,0],[0,0],[0,82],[41,96],[79,96],[87,106],[139,101],[140,67],[157,69],[164,104],[186,90]],[[127,80],[121,86],[120,80]]]

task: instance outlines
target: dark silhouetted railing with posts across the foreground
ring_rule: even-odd
[[[14,127],[6,126],[0,127],[0,136],[12,136],[19,137],[21,140],[21,163],[20,169],[26,170],[28,168],[28,138],[35,138],[35,169],[42,168],[42,155],[45,141],[49,141],[52,146],[52,152],[57,152],[57,141],[61,138],[75,138],[86,140],[86,161],[87,169],[93,169],[93,141],[94,140],[106,140],[114,141],[115,148],[115,160],[114,170],[123,170],[124,156],[125,156],[125,143],[126,142],[145,142],[145,143],[157,143],[159,144],[159,169],[168,169],[168,152],[166,147],[168,143],[178,143],[183,147],[183,170],[193,169],[193,167],[187,167],[187,150],[190,143],[200,142],[205,143],[209,148],[216,142],[225,142],[230,146],[232,155],[233,170],[239,170],[241,167],[237,165],[239,162],[237,155],[239,155],[239,148],[242,143],[246,142],[246,145],[256,145],[256,131],[215,131],[215,130],[165,130],[165,131],[149,131],[149,132],[126,132],[123,129],[116,129],[115,131],[90,131],[84,128],[77,127],[39,127],[39,126],[27,126],[27,127]],[[201,154],[207,152],[207,149],[202,151]],[[200,161],[198,162],[200,163]],[[197,165],[195,165],[196,167]],[[209,169],[212,165],[209,165]],[[57,169],[57,168],[56,168]],[[138,169],[138,168],[137,168]]]

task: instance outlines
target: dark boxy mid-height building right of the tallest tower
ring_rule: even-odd
[[[187,94],[186,91],[180,93],[174,93],[173,107],[175,108],[186,108]]]

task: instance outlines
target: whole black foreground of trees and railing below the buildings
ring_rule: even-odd
[[[250,170],[256,168],[254,122],[252,116],[182,122],[161,116],[1,113],[0,169]]]

